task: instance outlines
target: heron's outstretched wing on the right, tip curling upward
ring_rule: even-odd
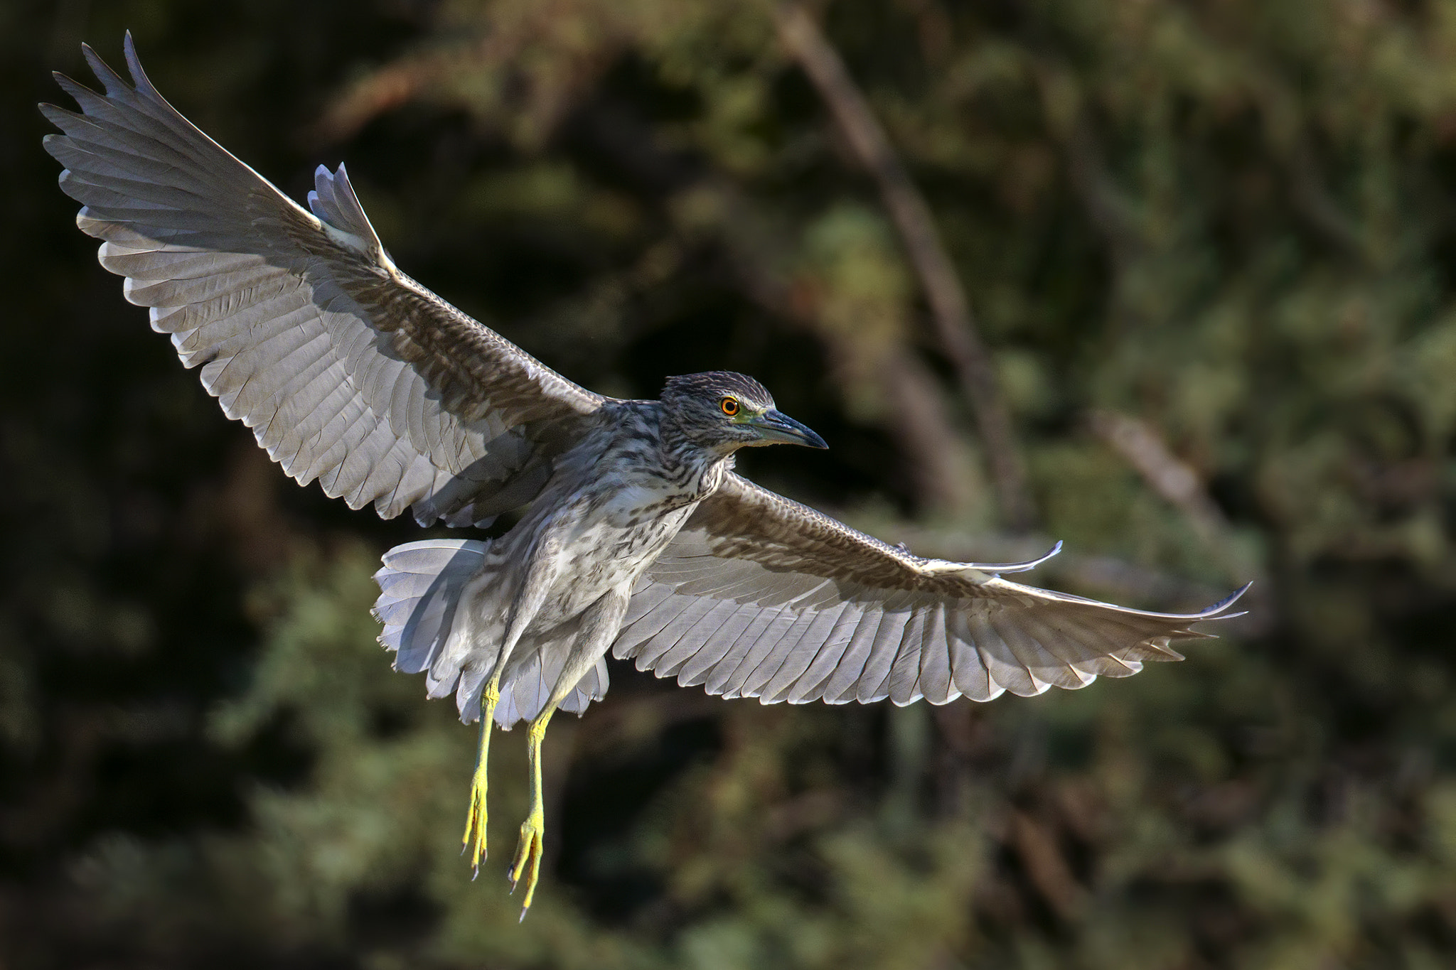
[[[920,558],[729,474],[633,590],[613,649],[766,704],[989,701],[1181,660],[1168,641],[1208,636],[1188,624],[1236,615],[1243,592],[1156,614],[997,574],[1032,564]]]

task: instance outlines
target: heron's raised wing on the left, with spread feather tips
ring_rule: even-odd
[[[131,83],[57,74],[80,113],[41,105],[100,263],[151,308],[182,364],[301,484],[384,518],[483,522],[529,502],[603,397],[402,273],[344,166],[303,209],[178,113],[125,41]]]

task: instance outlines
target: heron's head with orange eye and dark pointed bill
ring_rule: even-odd
[[[662,406],[695,445],[721,455],[756,445],[828,448],[824,439],[773,406],[763,384],[732,371],[670,377]]]

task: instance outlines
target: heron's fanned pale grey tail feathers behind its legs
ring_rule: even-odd
[[[466,723],[479,720],[480,691],[494,669],[494,660],[486,665],[467,663],[475,653],[472,647],[482,644],[466,643],[464,652],[453,647],[454,653],[446,657],[441,657],[441,652],[450,641],[450,631],[456,625],[462,599],[467,598],[470,580],[486,564],[489,550],[491,542],[479,540],[406,542],[384,553],[384,566],[374,573],[380,589],[379,599],[374,601],[374,618],[384,624],[379,641],[395,652],[395,669],[402,673],[427,672],[430,697],[448,697],[453,691],[460,720]],[[504,602],[499,605],[504,608]],[[469,611],[467,605],[466,612]],[[467,618],[462,621],[469,622]],[[486,627],[466,636],[491,637],[499,633],[502,630],[498,627]],[[542,711],[575,633],[575,624],[565,624],[546,637],[521,638],[502,672],[501,702],[495,708],[496,724],[510,730],[513,724]],[[566,695],[561,708],[581,714],[606,692],[607,665],[606,659],[598,659]]]

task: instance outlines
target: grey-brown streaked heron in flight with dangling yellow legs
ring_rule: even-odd
[[[759,381],[713,371],[658,400],[578,387],[390,259],[341,164],[309,207],[84,47],[105,93],[57,74],[80,112],[41,111],[45,150],[102,266],[149,307],[223,412],[300,484],[351,509],[495,540],[384,554],[374,615],[395,669],[480,723],[463,849],[485,858],[492,723],[529,721],[531,803],[508,877],[540,873],[542,739],[607,691],[606,654],[722,697],[844,704],[1080,688],[1181,659],[1227,618],[1127,609],[1003,579],[1031,563],[922,558],[734,473],[740,448],[824,441]],[[1060,548],[1060,544],[1057,545]],[[1053,550],[1048,556],[1054,554]]]

